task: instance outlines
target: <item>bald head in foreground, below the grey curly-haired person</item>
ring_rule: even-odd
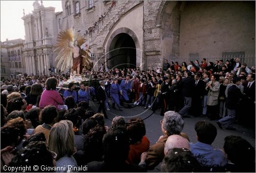
[[[170,135],[165,142],[164,154],[166,155],[168,150],[172,148],[187,148],[190,149],[190,145],[187,139],[180,135]]]

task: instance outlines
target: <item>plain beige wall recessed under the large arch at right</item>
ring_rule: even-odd
[[[255,56],[255,1],[187,2],[181,12],[180,57],[221,57],[222,52]]]

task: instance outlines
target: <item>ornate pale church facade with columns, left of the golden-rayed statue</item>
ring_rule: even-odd
[[[56,54],[53,46],[58,34],[57,15],[54,7],[44,7],[38,1],[33,3],[34,10],[22,19],[25,26],[24,59],[29,75],[50,74]]]

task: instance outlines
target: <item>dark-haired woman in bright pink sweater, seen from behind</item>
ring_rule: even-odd
[[[44,109],[45,106],[51,104],[60,110],[60,105],[64,104],[63,99],[60,97],[58,91],[56,90],[56,85],[57,79],[55,77],[50,77],[46,80],[46,90],[42,92],[39,102],[39,107],[41,109]]]

